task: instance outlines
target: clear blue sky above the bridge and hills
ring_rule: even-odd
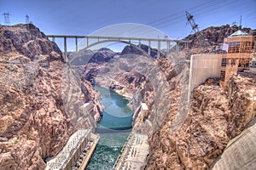
[[[90,35],[105,26],[137,23],[182,39],[192,33],[185,11],[202,30],[239,25],[241,16],[243,27],[256,29],[255,10],[256,0],[0,0],[0,24],[9,12],[10,25],[26,23],[27,14],[46,35]]]

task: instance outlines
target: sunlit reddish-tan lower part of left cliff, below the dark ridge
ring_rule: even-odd
[[[12,161],[6,168],[44,168],[44,158],[55,156],[74,132],[61,102],[61,63],[51,62],[49,71],[29,59],[1,65],[0,150],[8,155],[1,166]]]

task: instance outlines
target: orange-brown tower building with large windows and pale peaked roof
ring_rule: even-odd
[[[222,88],[226,89],[230,77],[237,74],[238,71],[249,69],[254,37],[238,30],[224,39],[224,46],[227,47],[227,54],[221,61],[219,83]]]

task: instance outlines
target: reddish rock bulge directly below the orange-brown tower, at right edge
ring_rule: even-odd
[[[256,115],[256,75],[241,73],[228,84],[230,114],[228,135],[236,137]]]

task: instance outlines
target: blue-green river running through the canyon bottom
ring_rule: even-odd
[[[112,169],[114,162],[131,131],[132,111],[123,96],[100,86],[95,87],[102,95],[104,112],[96,127],[101,139],[96,147],[87,170]]]

